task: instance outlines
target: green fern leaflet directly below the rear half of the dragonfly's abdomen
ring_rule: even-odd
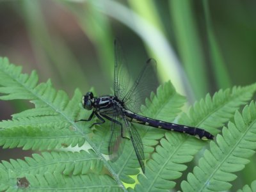
[[[184,163],[190,162],[205,144],[195,138],[185,142],[182,134],[173,132],[166,132],[160,143],[147,161],[145,176],[138,175],[140,184],[134,191],[168,191],[174,188],[176,183],[173,180],[179,179],[187,168]]]

